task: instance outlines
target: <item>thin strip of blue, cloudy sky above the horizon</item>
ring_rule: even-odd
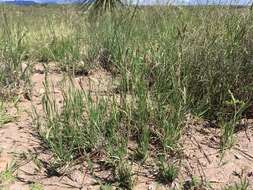
[[[1,1],[15,1],[15,0],[0,0]],[[27,0],[16,0],[27,1]],[[31,0],[28,0],[31,1]],[[38,3],[56,2],[56,3],[70,3],[76,0],[32,0]],[[123,0],[124,1],[124,0]],[[128,1],[128,0],[126,0]],[[249,5],[253,0],[130,0],[133,4],[154,5],[154,4],[236,4],[236,5]]]

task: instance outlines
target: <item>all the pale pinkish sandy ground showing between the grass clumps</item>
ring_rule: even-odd
[[[49,74],[49,81],[53,84],[54,94],[59,101],[62,78],[62,74],[56,71]],[[38,113],[42,110],[41,98],[44,94],[42,66],[36,66],[31,81],[33,83],[31,97],[22,96],[18,110],[11,106],[8,108],[8,112],[17,115],[17,119],[0,127],[0,172],[11,162],[15,162],[18,166],[15,172],[16,180],[8,185],[0,184],[0,189],[26,190],[30,189],[34,182],[42,184],[45,190],[99,189],[97,180],[90,175],[85,163],[73,167],[64,176],[57,176],[57,173],[49,171],[48,165],[52,161],[52,156],[41,145],[32,126],[31,117],[32,106]],[[89,76],[77,77],[74,83],[77,86],[81,84],[86,90],[92,89],[94,93],[103,93],[112,86],[112,77],[104,70],[94,70]],[[235,134],[235,146],[221,157],[218,147],[219,129],[203,126],[203,123],[191,120],[181,139],[182,169],[173,186],[187,190],[188,180],[196,177],[200,182],[210,184],[211,189],[222,189],[227,184],[245,178],[250,183],[249,190],[253,189],[252,123],[248,120],[245,128]],[[36,164],[36,160],[42,165]],[[152,163],[150,165],[152,166]],[[154,181],[152,167],[136,165],[133,168],[136,173],[134,189],[171,189]]]

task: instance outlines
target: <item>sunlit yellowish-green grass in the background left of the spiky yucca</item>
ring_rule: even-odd
[[[71,74],[87,70],[84,18],[75,6],[0,5],[0,9],[3,83],[26,81],[31,62],[55,62],[61,71]],[[21,69],[22,62],[29,67]]]

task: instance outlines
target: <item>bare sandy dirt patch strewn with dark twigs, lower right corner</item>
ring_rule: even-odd
[[[209,183],[214,189],[223,189],[226,185],[239,183],[241,179],[253,186],[253,128],[249,120],[245,129],[235,134],[235,145],[221,153],[220,129],[209,125],[192,123],[182,138],[183,178],[197,177],[203,183]]]

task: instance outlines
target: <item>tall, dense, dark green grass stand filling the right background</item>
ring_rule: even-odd
[[[229,91],[252,101],[252,15],[220,8],[167,9],[130,9],[91,24],[88,55],[94,59],[106,49],[129,80],[124,88],[132,89],[136,77],[144,75],[163,102],[180,97],[187,109],[207,118],[217,118]]]

